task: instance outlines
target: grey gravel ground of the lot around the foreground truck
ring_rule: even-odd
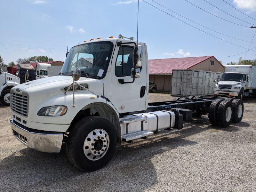
[[[149,93],[149,101],[171,100]],[[242,122],[213,127],[207,116],[182,130],[118,145],[110,163],[81,172],[60,154],[23,146],[0,107],[0,191],[256,191],[256,100],[244,100]]]

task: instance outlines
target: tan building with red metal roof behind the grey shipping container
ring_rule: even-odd
[[[173,69],[224,72],[223,65],[214,56],[152,59],[148,60],[149,81],[155,82],[159,91],[171,91]]]

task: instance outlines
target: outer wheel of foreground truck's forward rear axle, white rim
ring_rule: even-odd
[[[217,111],[218,124],[228,127],[233,118],[233,106],[230,101],[221,101]]]

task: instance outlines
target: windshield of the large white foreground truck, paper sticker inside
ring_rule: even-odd
[[[78,67],[81,70],[81,76],[86,77],[87,74],[93,78],[103,78],[111,52],[111,42],[88,43],[73,47],[68,53],[61,73],[72,75],[73,70]]]

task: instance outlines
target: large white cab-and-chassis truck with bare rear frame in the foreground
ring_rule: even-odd
[[[11,101],[14,137],[43,152],[66,143],[69,161],[88,172],[105,166],[117,143],[182,129],[194,115],[228,127],[244,110],[242,100],[218,97],[148,103],[146,44],[113,37],[75,45],[59,76],[12,88]]]

